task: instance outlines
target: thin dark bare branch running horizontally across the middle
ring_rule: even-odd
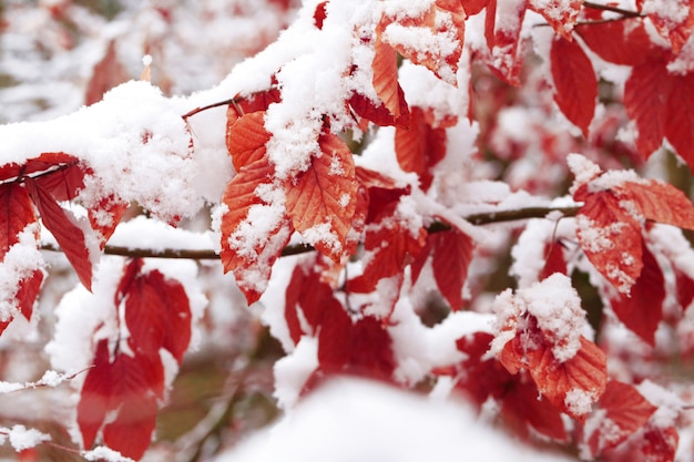
[[[571,206],[571,207],[525,207],[525,208],[516,208],[512,211],[499,211],[499,212],[483,212],[479,214],[471,214],[463,217],[466,220],[470,222],[472,225],[482,226],[482,225],[491,225],[496,223],[506,223],[506,222],[517,222],[530,218],[544,218],[548,214],[552,212],[559,212],[564,217],[575,216],[579,212],[580,206]],[[433,222],[427,228],[427,232],[430,234],[433,233],[442,233],[451,229],[451,225],[443,222]],[[62,251],[62,249],[53,244],[43,244],[41,245],[42,250],[49,251]],[[295,244],[290,246],[286,246],[282,250],[282,256],[287,257],[290,255],[299,255],[308,251],[313,251],[314,247],[308,244]],[[125,247],[125,246],[112,246],[106,245],[103,253],[105,255],[116,255],[121,257],[130,257],[130,258],[170,258],[170,259],[193,259],[193,260],[216,260],[220,259],[220,254],[213,249],[177,249],[177,248],[164,248],[164,249],[152,249],[152,248],[136,248],[136,247]]]

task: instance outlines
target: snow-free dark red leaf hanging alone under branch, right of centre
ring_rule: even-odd
[[[462,288],[468,278],[474,243],[463,232],[453,228],[430,234],[436,285],[453,310],[462,308]]]

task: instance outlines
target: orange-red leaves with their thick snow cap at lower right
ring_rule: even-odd
[[[560,274],[494,300],[497,335],[490,351],[512,374],[527,370],[562,412],[583,419],[604,391],[605,355],[582,335],[585,311]]]

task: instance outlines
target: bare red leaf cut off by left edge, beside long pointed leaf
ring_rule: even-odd
[[[27,189],[18,183],[0,185],[0,261],[14,244],[27,225],[34,223],[37,216]]]

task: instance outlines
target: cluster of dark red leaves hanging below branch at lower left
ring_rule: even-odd
[[[156,411],[164,401],[162,350],[177,363],[191,341],[191,309],[181,283],[159,270],[143,270],[133,259],[113,297],[114,318],[123,319],[119,338],[101,339],[86,373],[78,425],[85,448],[101,430],[103,441],[137,460],[150,446]],[[123,332],[127,338],[121,338]]]

